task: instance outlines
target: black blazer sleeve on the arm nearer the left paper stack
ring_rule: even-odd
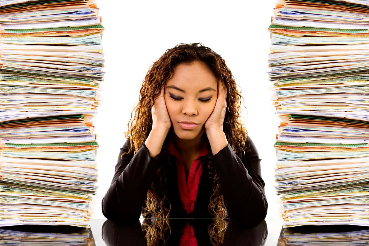
[[[111,185],[101,201],[103,215],[117,224],[132,224],[141,215],[146,193],[159,168],[160,157],[150,155],[145,143],[135,155],[121,155],[128,152],[127,140],[120,148],[118,162]]]

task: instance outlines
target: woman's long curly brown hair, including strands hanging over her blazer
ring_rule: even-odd
[[[241,94],[237,89],[237,84],[228,69],[225,60],[210,48],[200,44],[178,44],[172,49],[168,49],[156,62],[149,68],[144,81],[142,82],[138,104],[131,112],[131,119],[127,124],[128,131],[125,137],[130,141],[128,153],[137,152],[148,138],[152,128],[151,107],[154,105],[155,97],[161,93],[161,88],[173,75],[173,71],[180,63],[192,63],[194,61],[204,62],[213,72],[217,80],[220,80],[227,87],[227,110],[225,113],[223,131],[228,143],[234,152],[241,156],[245,155],[247,130],[242,125],[241,112]],[[132,114],[134,117],[132,119]],[[163,146],[168,143],[167,135]],[[147,191],[146,208],[142,214],[145,218],[149,215],[154,218],[169,218],[170,202],[166,199],[164,186],[166,183],[166,165],[169,165],[169,154],[166,148],[162,148],[163,156],[166,156],[166,162],[159,167],[151,187]],[[211,195],[208,211],[214,218],[226,218],[227,209],[224,205],[221,187],[218,181],[218,175],[214,169],[211,153],[208,154],[207,166],[209,170],[209,179],[213,180],[213,195]],[[165,206],[165,202],[169,206]]]

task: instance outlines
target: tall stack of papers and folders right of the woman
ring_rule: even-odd
[[[284,226],[369,225],[369,1],[285,0],[272,17]]]

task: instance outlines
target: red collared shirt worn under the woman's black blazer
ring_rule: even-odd
[[[170,154],[176,156],[176,167],[177,167],[177,184],[179,195],[182,201],[182,208],[186,211],[187,214],[192,212],[193,206],[197,197],[197,188],[199,187],[200,176],[202,173],[203,163],[200,161],[200,156],[207,155],[209,150],[206,148],[207,141],[204,141],[204,144],[200,150],[200,154],[193,160],[191,169],[187,178],[184,174],[184,166],[182,161],[180,160],[179,153],[174,146],[173,141],[169,140],[168,151]]]

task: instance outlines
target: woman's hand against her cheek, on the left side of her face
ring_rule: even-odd
[[[154,105],[151,107],[151,116],[152,129],[169,132],[172,122],[170,121],[169,113],[165,105],[164,86],[161,89],[160,95],[154,100]]]

